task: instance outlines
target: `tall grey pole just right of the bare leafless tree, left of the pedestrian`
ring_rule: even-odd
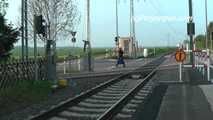
[[[87,35],[86,39],[88,41],[88,69],[92,71],[92,50],[91,50],[91,33],[90,33],[90,0],[87,0]]]

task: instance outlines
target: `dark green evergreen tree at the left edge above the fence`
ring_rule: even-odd
[[[11,24],[6,24],[3,15],[0,14],[0,58],[9,57],[14,43],[18,41],[19,31]]]

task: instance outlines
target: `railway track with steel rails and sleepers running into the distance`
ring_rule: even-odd
[[[109,120],[130,119],[137,104],[144,103],[152,93],[150,81],[160,57],[134,71],[122,74],[85,93],[32,116],[30,120]]]

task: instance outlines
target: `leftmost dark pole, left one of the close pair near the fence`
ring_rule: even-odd
[[[24,7],[25,1],[21,0],[21,59],[24,60]]]

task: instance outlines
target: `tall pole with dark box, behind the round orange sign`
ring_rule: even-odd
[[[194,22],[193,22],[192,0],[189,0],[188,35],[189,35],[189,37],[190,37],[190,50],[194,50],[194,45],[193,45]],[[190,53],[190,63],[191,63],[191,64],[194,64],[193,52]]]

